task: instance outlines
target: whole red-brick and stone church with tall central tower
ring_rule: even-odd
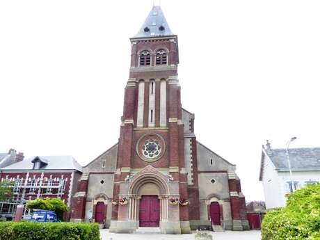
[[[160,6],[130,42],[118,143],[83,167],[70,221],[118,233],[249,230],[236,166],[197,141],[182,108],[177,35]]]

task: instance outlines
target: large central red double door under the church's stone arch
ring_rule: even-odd
[[[139,210],[140,227],[159,227],[160,202],[157,195],[143,195]]]

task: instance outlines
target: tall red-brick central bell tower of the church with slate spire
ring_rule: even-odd
[[[141,225],[141,206],[150,195],[160,201],[158,225],[150,220],[153,227],[159,226],[163,233],[190,232],[189,206],[169,202],[189,199],[177,35],[171,32],[160,6],[153,6],[130,42],[131,64],[113,185],[113,199],[129,199],[129,207],[113,205],[111,232],[134,232],[137,225],[145,226]],[[141,175],[145,179],[137,177]],[[160,184],[161,179],[166,184]],[[136,192],[130,192],[132,189]],[[149,197],[144,199],[144,195]]]

